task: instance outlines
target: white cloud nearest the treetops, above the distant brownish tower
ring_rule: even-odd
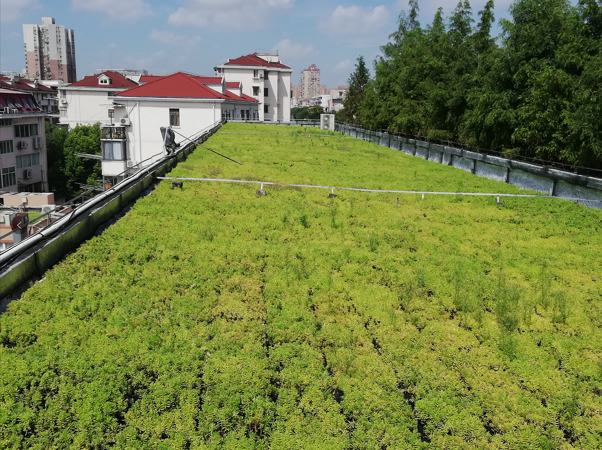
[[[365,35],[379,31],[388,25],[389,11],[385,5],[373,9],[352,5],[338,7],[326,22],[320,24],[326,34]]]

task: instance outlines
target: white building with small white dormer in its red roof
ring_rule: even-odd
[[[136,86],[136,82],[109,70],[60,86],[60,123],[68,125],[70,129],[78,124],[111,123],[114,111],[108,108],[110,102],[107,97]]]

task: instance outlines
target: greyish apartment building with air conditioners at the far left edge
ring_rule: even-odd
[[[0,191],[47,192],[46,113],[34,96],[0,88]]]

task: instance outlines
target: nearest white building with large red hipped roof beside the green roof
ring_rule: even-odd
[[[185,138],[222,118],[256,120],[258,100],[243,90],[243,84],[224,77],[176,72],[105,97],[115,111],[114,126],[102,127],[105,184],[120,181],[128,168],[149,165],[165,155],[161,127],[172,127],[176,142],[185,145]]]

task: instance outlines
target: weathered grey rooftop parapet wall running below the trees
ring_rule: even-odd
[[[556,197],[602,199],[602,178],[588,177],[561,169],[500,156],[447,147],[432,142],[373,132],[349,124],[336,125],[338,132],[360,139],[371,139],[379,145],[403,151],[412,156],[438,162],[471,172],[479,177],[515,184],[522,189],[536,190]],[[600,202],[582,202],[588,207],[601,208]]]

